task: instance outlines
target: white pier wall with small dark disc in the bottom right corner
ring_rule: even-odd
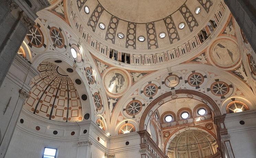
[[[239,122],[243,120],[244,125]],[[256,110],[227,114],[225,126],[237,158],[255,158],[256,155]]]

